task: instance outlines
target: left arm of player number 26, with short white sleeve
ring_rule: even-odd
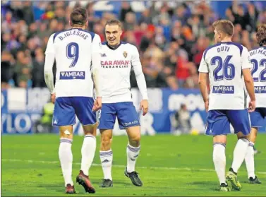
[[[202,56],[202,59],[200,61],[200,67],[198,68],[198,71],[200,72],[200,75],[198,77],[198,84],[200,85],[200,92],[203,98],[203,101],[205,103],[205,109],[206,112],[209,109],[209,95],[208,95],[208,68],[207,68],[207,63],[204,59],[204,55]]]

